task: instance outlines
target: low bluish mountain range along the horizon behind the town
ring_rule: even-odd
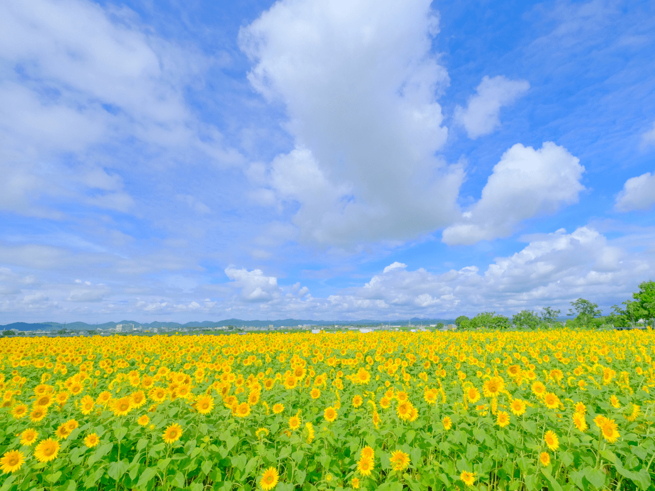
[[[311,319],[277,319],[274,321],[244,321],[242,319],[225,319],[223,321],[202,321],[202,322],[187,322],[180,324],[177,322],[158,322],[140,323],[137,321],[120,321],[120,322],[105,322],[103,324],[87,324],[86,322],[67,322],[65,324],[59,322],[40,322],[40,323],[26,323],[14,322],[11,324],[0,325],[0,330],[18,329],[18,331],[58,331],[65,327],[66,329],[73,329],[77,331],[86,331],[88,329],[112,329],[117,324],[134,324],[141,326],[143,329],[155,329],[155,327],[223,327],[233,325],[234,327],[292,327],[298,325],[371,325],[371,324],[407,324],[411,321],[413,324],[436,324],[443,322],[444,324],[454,323],[454,319],[419,319],[417,317],[412,319],[398,319],[395,321],[379,321],[373,319],[360,319],[358,321],[314,321]]]

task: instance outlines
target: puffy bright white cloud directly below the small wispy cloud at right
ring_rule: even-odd
[[[538,150],[517,143],[494,166],[479,201],[443,230],[443,242],[475,244],[510,236],[521,221],[577,202],[585,189],[579,162],[552,141]]]

